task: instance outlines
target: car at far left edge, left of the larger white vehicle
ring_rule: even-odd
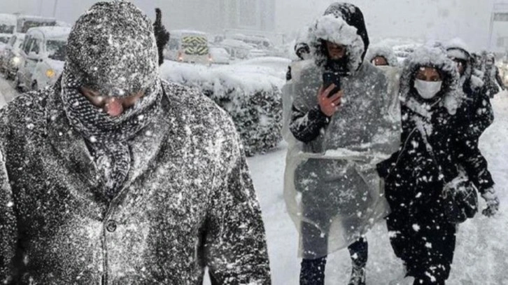
[[[0,71],[6,75],[7,79],[14,78],[17,69],[23,63],[21,58],[23,41],[24,34],[13,34],[0,55]]]

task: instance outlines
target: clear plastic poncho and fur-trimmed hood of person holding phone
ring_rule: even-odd
[[[369,62],[363,63],[369,41],[358,8],[332,4],[316,21],[309,39],[313,39],[309,41],[313,60],[295,62],[292,79],[284,87],[283,137],[289,144],[284,190],[298,230],[302,223],[329,229],[323,230],[328,239],[325,249],[303,249],[300,244],[301,256],[318,258],[347,246],[386,215],[375,164],[396,151],[400,122],[390,113],[395,100],[387,92],[386,76]],[[327,64],[320,48],[323,39],[346,45],[348,58],[348,75],[340,79],[343,104],[332,118],[320,111],[316,95]],[[299,180],[302,176],[309,184],[331,180],[309,193]],[[360,204],[359,197],[365,197]],[[334,209],[340,213],[333,214]],[[315,219],[308,215],[312,211],[326,213]]]

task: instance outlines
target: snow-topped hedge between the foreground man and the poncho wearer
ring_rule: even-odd
[[[272,72],[273,73],[273,72]],[[166,62],[162,78],[198,88],[232,117],[246,155],[264,153],[281,141],[281,78],[262,67],[209,68]]]

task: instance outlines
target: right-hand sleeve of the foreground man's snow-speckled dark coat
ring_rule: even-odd
[[[216,169],[205,254],[212,284],[270,284],[261,210],[232,123]]]

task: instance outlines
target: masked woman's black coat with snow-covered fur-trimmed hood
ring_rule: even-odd
[[[434,67],[442,76],[442,90],[436,98],[422,99],[414,88],[414,76],[421,67]],[[458,83],[456,65],[441,48],[422,47],[404,61],[402,144],[378,168],[393,211],[428,221],[444,218],[443,187],[463,172],[460,167],[469,163],[465,158],[470,155],[464,152],[463,121],[455,115],[454,106],[460,106],[462,100]]]

